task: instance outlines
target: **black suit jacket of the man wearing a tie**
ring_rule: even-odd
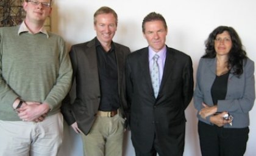
[[[193,67],[190,56],[167,47],[165,67],[158,97],[155,99],[149,73],[148,47],[127,57],[126,82],[130,108],[129,125],[133,146],[151,149],[154,136],[160,139],[185,129],[184,110],[193,96]],[[180,147],[183,148],[183,147]]]

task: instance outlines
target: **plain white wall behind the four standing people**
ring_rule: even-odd
[[[132,51],[148,46],[141,32],[141,22],[149,12],[161,13],[168,24],[166,44],[182,50],[193,59],[194,75],[199,58],[204,53],[204,41],[218,25],[230,25],[240,35],[248,56],[256,62],[256,1],[255,0],[54,0],[52,31],[65,38],[68,46],[88,41],[95,36],[93,13],[102,5],[118,13],[118,30],[114,41],[129,46]],[[255,155],[256,108],[250,112],[251,126],[246,156]],[[187,131],[185,156],[199,156],[196,111],[193,103],[186,110]],[[135,155],[126,134],[125,156]],[[82,156],[78,135],[65,126],[65,141],[61,156]]]

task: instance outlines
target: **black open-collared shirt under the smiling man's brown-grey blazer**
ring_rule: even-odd
[[[97,38],[95,46],[98,59],[99,83],[101,86],[99,110],[117,110],[119,108],[119,100],[115,46],[112,42],[111,49],[105,52]]]

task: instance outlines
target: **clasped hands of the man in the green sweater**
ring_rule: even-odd
[[[23,102],[16,112],[23,121],[34,121],[35,123],[41,122],[49,112],[49,105],[46,103],[39,103],[35,101]]]

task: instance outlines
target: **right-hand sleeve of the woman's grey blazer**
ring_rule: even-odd
[[[229,100],[218,100],[218,112],[228,111],[236,113],[248,113],[254,106],[255,100],[255,80],[254,80],[254,62],[250,59],[244,62],[244,86],[243,96]],[[232,84],[238,85],[238,84]]]

